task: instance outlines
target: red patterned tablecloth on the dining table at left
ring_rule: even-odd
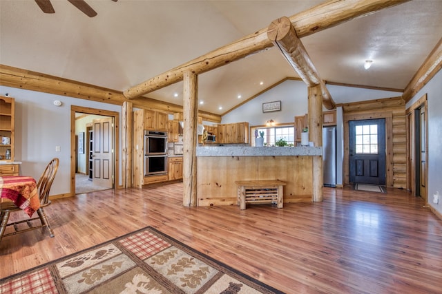
[[[29,217],[40,207],[37,183],[29,176],[0,176],[0,198],[1,202],[11,200]]]

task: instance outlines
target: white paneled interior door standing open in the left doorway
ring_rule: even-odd
[[[113,187],[113,118],[93,120],[93,183]]]

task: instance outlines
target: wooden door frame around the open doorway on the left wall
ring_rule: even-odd
[[[117,162],[119,162],[119,113],[112,112],[110,110],[95,109],[90,107],[81,107],[76,105],[70,106],[70,196],[75,196],[75,154],[77,152],[77,146],[75,145],[75,112],[82,112],[84,114],[96,114],[99,116],[111,116],[114,118],[114,189],[119,188],[117,183],[119,182],[119,168]]]

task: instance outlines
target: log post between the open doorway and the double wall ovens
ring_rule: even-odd
[[[132,187],[132,143],[133,143],[133,103],[124,102],[122,107],[122,183],[124,188]]]

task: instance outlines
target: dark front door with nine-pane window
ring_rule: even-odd
[[[349,121],[349,181],[385,185],[385,119]]]

